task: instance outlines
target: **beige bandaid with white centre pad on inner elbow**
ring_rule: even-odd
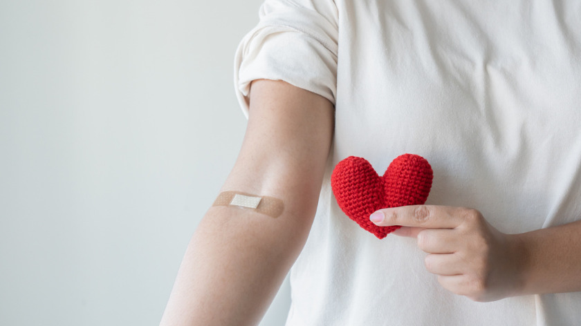
[[[252,209],[257,213],[277,218],[282,214],[282,200],[268,196],[250,195],[239,191],[224,191],[218,195],[212,206],[233,206],[242,209]]]

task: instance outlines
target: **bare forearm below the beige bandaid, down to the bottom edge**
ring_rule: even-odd
[[[212,207],[187,247],[161,325],[257,324],[302,249],[311,221],[291,211],[270,218]]]

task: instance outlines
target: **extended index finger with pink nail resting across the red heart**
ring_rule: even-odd
[[[454,229],[462,224],[466,209],[450,206],[412,205],[380,209],[369,220],[379,227],[401,225],[430,229]]]

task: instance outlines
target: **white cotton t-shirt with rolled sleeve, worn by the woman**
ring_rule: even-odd
[[[380,175],[434,170],[428,204],[505,233],[581,218],[581,1],[268,0],[235,84],[282,79],[335,104],[319,207],[291,270],[287,325],[581,325],[581,292],[476,303],[443,289],[416,240],[347,218],[329,178],[350,155]]]

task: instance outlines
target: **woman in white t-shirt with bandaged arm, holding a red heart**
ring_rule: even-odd
[[[291,266],[287,325],[581,320],[578,1],[268,0],[236,64],[248,130],[221,191],[284,211],[211,207],[162,325],[255,325]],[[371,215],[403,226],[378,240],[331,171],[403,153],[432,191]]]

